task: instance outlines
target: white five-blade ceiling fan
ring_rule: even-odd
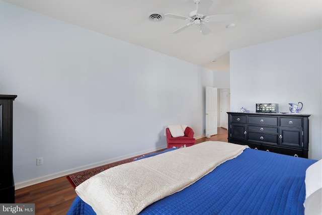
[[[232,20],[235,16],[234,14],[220,14],[207,16],[207,12],[213,4],[213,0],[202,0],[202,3],[200,3],[200,1],[201,0],[193,0],[193,2],[197,6],[197,10],[190,12],[188,17],[176,14],[165,14],[165,16],[169,18],[182,19],[190,22],[187,25],[184,25],[181,28],[173,31],[172,33],[176,34],[192,25],[197,25],[200,32],[203,35],[206,35],[211,33],[211,30],[205,25],[207,22],[229,21]]]

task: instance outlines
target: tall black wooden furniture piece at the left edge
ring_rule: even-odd
[[[0,203],[15,202],[13,176],[13,101],[15,95],[0,95]]]

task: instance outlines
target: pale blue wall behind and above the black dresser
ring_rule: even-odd
[[[302,102],[309,118],[309,158],[322,158],[321,30],[230,51],[231,111],[256,103]]]

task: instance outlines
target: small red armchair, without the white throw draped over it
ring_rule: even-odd
[[[195,144],[196,139],[193,138],[194,132],[192,128],[186,127],[185,129],[185,135],[184,136],[179,136],[179,137],[173,137],[171,135],[170,129],[166,128],[166,136],[167,136],[167,146],[169,148],[173,147],[190,147]]]

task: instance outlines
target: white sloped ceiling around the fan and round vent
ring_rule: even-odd
[[[214,0],[207,15],[234,13],[235,19],[207,23],[208,35],[196,26],[172,34],[186,20],[148,19],[152,12],[188,16],[196,10],[193,0],[4,1],[219,71],[229,70],[229,50],[322,28],[322,0]],[[235,28],[225,27],[231,23]]]

